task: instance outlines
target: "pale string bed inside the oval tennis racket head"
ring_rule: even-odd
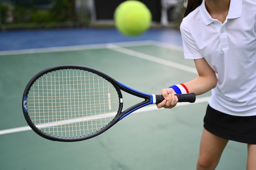
[[[27,110],[48,135],[90,135],[108,125],[119,110],[115,87],[96,73],[63,69],[39,77],[29,90]]]

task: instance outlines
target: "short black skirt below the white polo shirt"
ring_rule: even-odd
[[[208,105],[204,128],[224,139],[256,144],[256,116],[227,115]]]

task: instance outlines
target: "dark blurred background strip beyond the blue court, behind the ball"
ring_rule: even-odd
[[[116,7],[125,0],[0,0],[0,30],[113,27]],[[185,0],[141,0],[152,27],[178,28]]]

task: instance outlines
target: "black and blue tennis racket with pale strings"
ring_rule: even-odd
[[[126,110],[121,91],[144,99]],[[179,102],[195,102],[195,94],[177,95]],[[163,101],[162,95],[136,91],[93,68],[63,65],[47,68],[27,84],[22,110],[38,135],[54,141],[95,137],[135,110]]]

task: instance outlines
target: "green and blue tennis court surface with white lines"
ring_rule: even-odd
[[[141,108],[103,134],[79,142],[29,130],[22,94],[39,71],[62,64],[95,68],[148,94],[197,76],[184,60],[180,32],[151,29],[125,37],[115,29],[0,32],[0,170],[193,170],[210,93],[173,109]],[[124,94],[124,107],[136,97]],[[217,170],[246,167],[247,145],[230,141]]]

